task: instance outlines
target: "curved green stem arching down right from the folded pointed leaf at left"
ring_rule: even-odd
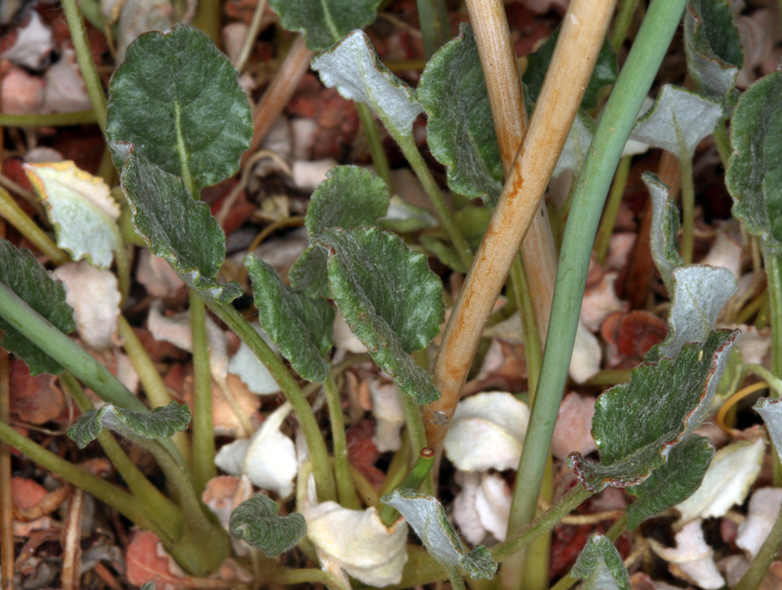
[[[220,320],[225,321],[229,328],[250,347],[252,353],[269,369],[274,380],[283,390],[285,399],[294,407],[296,417],[302,427],[307,448],[312,458],[313,475],[315,476],[318,500],[337,500],[337,490],[334,484],[334,473],[330,469],[326,442],[323,433],[317,424],[315,413],[306,401],[304,392],[295,382],[277,355],[263,339],[255,332],[250,323],[245,320],[239,311],[228,304],[215,300],[205,300],[211,311],[214,311]]]

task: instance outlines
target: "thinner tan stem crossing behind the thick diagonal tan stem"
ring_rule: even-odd
[[[502,168],[507,177],[519,152],[527,121],[519,66],[510,41],[505,5],[501,0],[467,0],[466,4],[486,78]],[[542,347],[546,343],[557,278],[557,252],[548,211],[542,201],[538,205],[538,213],[532,217],[527,236],[521,242],[521,257],[530,281],[530,294]]]

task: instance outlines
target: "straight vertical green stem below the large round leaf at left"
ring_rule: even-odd
[[[200,496],[207,481],[217,477],[215,437],[212,426],[212,374],[209,369],[206,310],[195,290],[190,290],[190,330],[193,333],[193,481]]]

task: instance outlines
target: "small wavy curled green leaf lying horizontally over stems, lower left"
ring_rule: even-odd
[[[187,429],[190,424],[190,408],[187,404],[171,402],[168,406],[155,407],[152,412],[134,412],[113,404],[105,404],[98,410],[88,410],[68,430],[68,436],[79,448],[101,434],[103,427],[134,442],[139,439],[172,437]]]

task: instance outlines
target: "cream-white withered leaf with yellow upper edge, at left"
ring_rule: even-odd
[[[25,173],[47,209],[59,248],[74,260],[86,258],[99,269],[110,267],[122,239],[117,227],[120,205],[108,184],[70,161],[27,163]]]

